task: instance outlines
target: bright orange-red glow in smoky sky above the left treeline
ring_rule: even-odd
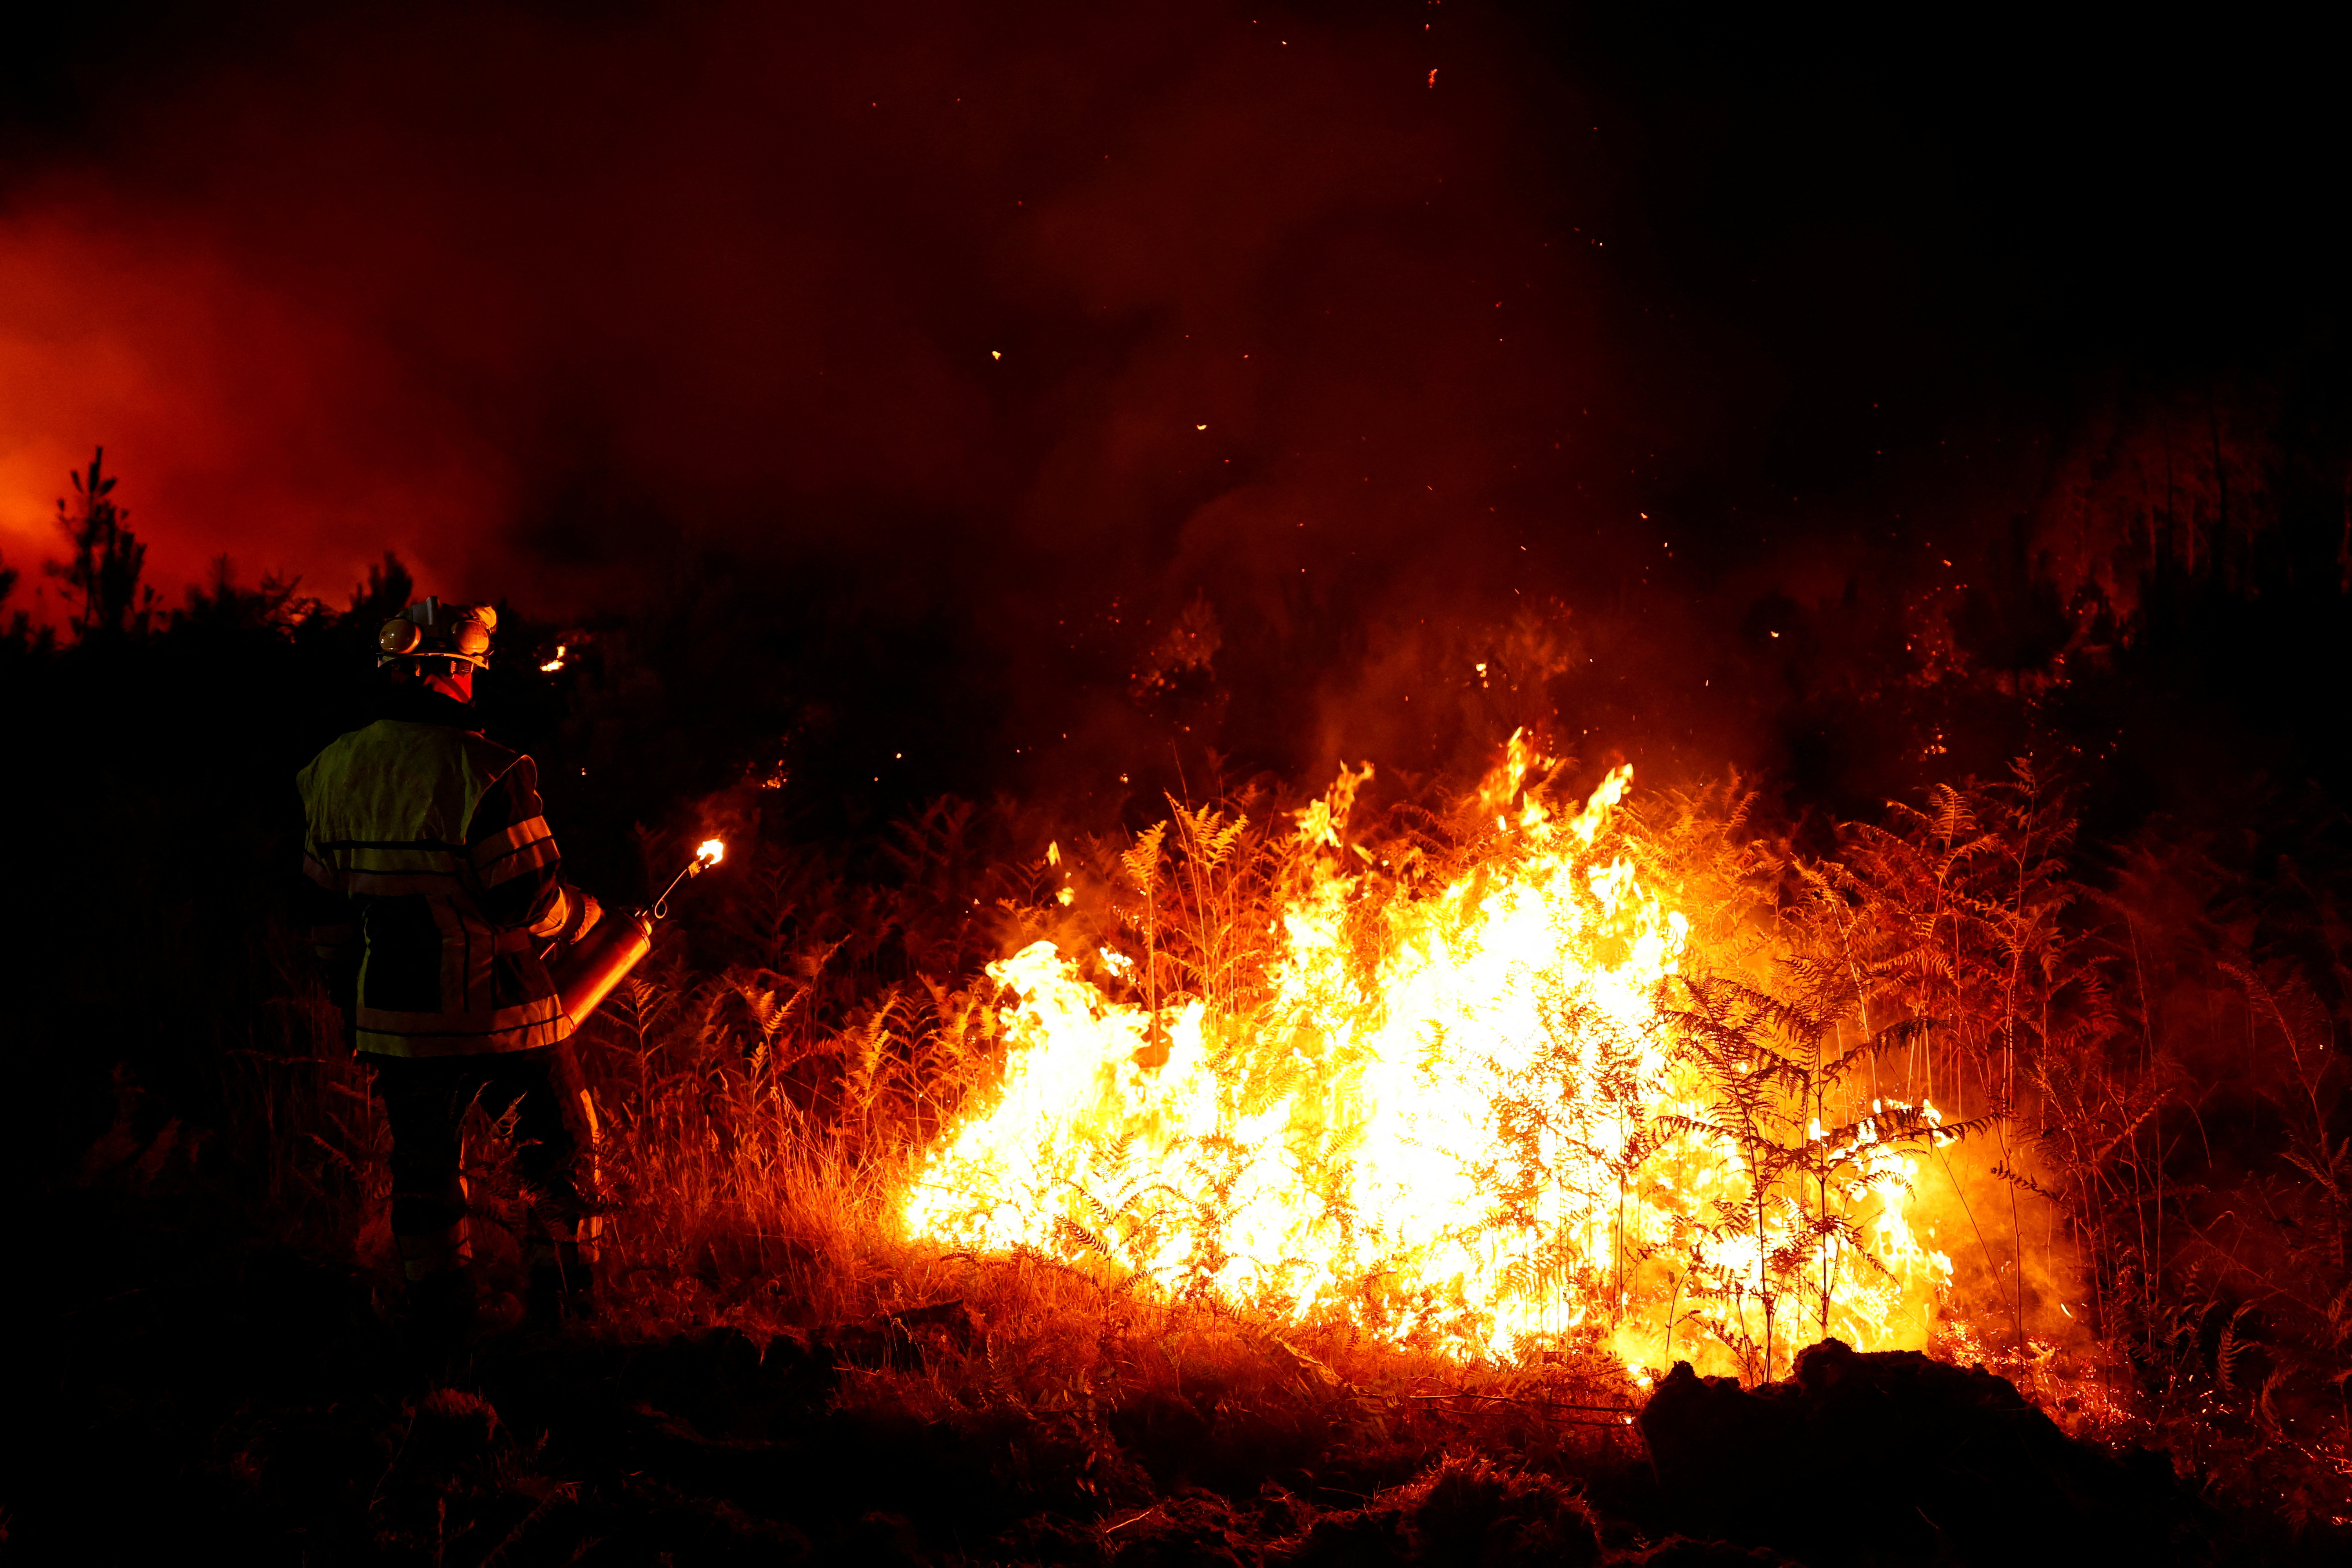
[[[0,221],[0,559],[9,609],[59,618],[40,562],[96,447],[165,607],[228,555],[339,604],[386,548],[449,581],[440,541],[506,510],[381,343],[165,223],[64,205]],[[449,527],[459,524],[459,527]],[[430,529],[430,534],[426,531]]]

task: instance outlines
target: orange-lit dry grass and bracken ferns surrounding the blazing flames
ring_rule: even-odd
[[[1305,875],[1275,804],[1174,806],[1141,839],[1056,846],[1054,863],[1018,842],[1009,813],[941,804],[901,827],[889,886],[755,860],[731,898],[694,917],[696,945],[724,957],[708,971],[656,957],[579,1041],[607,1119],[607,1331],[842,1333],[962,1302],[969,1319],[917,1328],[906,1354],[851,1373],[844,1396],[927,1420],[1016,1415],[1080,1448],[1120,1410],[1162,1406],[1214,1408],[1221,1432],[1345,1432],[1421,1458],[1463,1422],[1534,1418],[1526,1441],[1613,1441],[1613,1415],[1576,1408],[1623,1406],[1635,1389],[1576,1345],[1465,1368],[1343,1326],[1167,1298],[1082,1255],[976,1258],[894,1232],[913,1161],[1002,1065],[988,959],[1037,936],[1080,952],[1112,940],[1143,964],[1096,973],[1105,992],[1162,1006],[1195,994],[1214,1032],[1247,1034],[1265,999],[1270,917]],[[1371,875],[1409,898],[1463,870],[1486,809],[1392,799],[1359,818],[1355,842],[1378,844],[1367,860],[1385,865]],[[1971,1244],[1955,1281],[1966,1333],[1947,1349],[2009,1371],[2077,1429],[2154,1436],[2246,1495],[2279,1490],[2265,1455],[2300,1453],[2288,1505],[2340,1514],[2352,1333],[2340,1006],[2265,954],[2251,924],[2164,924],[2161,900],[2129,877],[2169,872],[2143,863],[2093,891],[2063,795],[2023,769],[1849,827],[1832,853],[1797,853],[1745,813],[1736,788],[1653,802],[1630,842],[1715,954],[1679,983],[1670,1016],[1724,1058],[1719,1121],[1743,1128],[1757,1215],[1795,1208],[1837,1229],[1844,1178],[1806,1159],[1804,1121],[1851,1121],[1872,1100],[1931,1088],[1983,1133],[1929,1161]],[[2230,891],[2241,889],[2185,898],[2213,907]],[[2171,978],[2150,980],[2157,966]],[[2241,1091],[2270,1145],[2241,1168],[2206,1154],[2204,1180],[2185,1180],[2199,1150],[2183,1065],[2194,1020],[2180,1004],[2199,976],[2206,1030],[2241,1027],[2246,1060],[2263,1063]],[[230,1063],[245,1128],[273,1150],[263,1197],[292,1232],[381,1265],[381,1119],[315,994],[292,983],[287,994],[280,1039]],[[1733,1070],[1733,1056],[1771,1072]],[[527,1194],[501,1187],[499,1128],[475,1133],[477,1206],[513,1222]],[[1931,1143],[1943,1140],[1922,1131]],[[2237,1201],[2218,1201],[2223,1190]],[[2249,1208],[2267,1220],[2253,1241]],[[2216,1213],[2239,1229],[2223,1234]],[[485,1253],[503,1267],[496,1241]],[[1773,1295],[1778,1340],[1748,1347],[1757,1373],[1785,1366],[1835,1288],[1809,1279],[1799,1253],[1776,1269],[1762,1284],[1677,1286]],[[1098,1448],[1087,1474],[1101,1472],[1103,1497],[1134,1495],[1120,1469],[1131,1443]]]

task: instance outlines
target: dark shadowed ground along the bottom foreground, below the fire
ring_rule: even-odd
[[[249,1563],[2032,1563],[2340,1561],[2150,1453],[2063,1436],[1999,1378],[1806,1354],[1759,1394],[1679,1371],[1646,1443],[1531,1462],[1376,1420],[976,1403],[875,1380],[884,1324],[510,1333],[419,1356],[374,1284],[200,1197],[66,1190],[16,1237],[0,1559]],[[943,1314],[953,1316],[953,1314]],[[962,1326],[950,1324],[950,1326]],[[985,1335],[983,1324],[971,1326]],[[1651,1458],[1653,1455],[1653,1458]]]

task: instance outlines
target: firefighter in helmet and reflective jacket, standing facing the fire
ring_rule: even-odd
[[[595,1110],[543,954],[597,922],[562,882],[536,764],[482,738],[499,614],[409,604],[379,632],[381,715],[299,776],[310,943],[393,1126],[393,1241],[426,1338],[475,1324],[459,1124],[515,1114],[534,1321],[593,1309]]]

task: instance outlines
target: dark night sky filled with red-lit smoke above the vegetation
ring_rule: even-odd
[[[2340,362],[2333,54],[2246,9],[16,26],[0,559],[103,442],[167,597],[724,581],[889,651],[858,745],[955,752],[913,792],[1195,724],[1446,766],[1531,710],[1432,693],[1496,679],[1752,759],[1771,607],[1929,590],[2096,433]]]

